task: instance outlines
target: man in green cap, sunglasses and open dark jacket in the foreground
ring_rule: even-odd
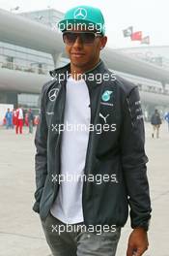
[[[42,88],[34,210],[53,255],[114,256],[129,205],[127,256],[143,255],[151,206],[138,89],[99,59],[99,9],[72,8],[59,27],[70,64]]]

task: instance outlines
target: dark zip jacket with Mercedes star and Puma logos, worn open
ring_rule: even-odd
[[[67,77],[69,72],[70,64],[50,72],[53,80],[42,87],[41,117],[35,139],[37,190],[34,205],[42,219],[47,216],[59,189],[52,177],[60,174],[62,133],[59,134],[55,127],[64,123],[67,80],[59,82],[58,76]],[[95,80],[91,79],[91,74]],[[84,181],[84,222],[87,226],[124,226],[129,205],[131,227],[147,230],[151,217],[148,158],[144,150],[144,123],[137,86],[111,73],[102,62],[85,76],[91,102],[91,124],[104,124],[101,113],[108,116],[106,123],[116,129],[100,134],[90,132],[84,173],[116,178],[115,182],[109,180],[101,184]],[[101,81],[97,79],[100,76]]]

